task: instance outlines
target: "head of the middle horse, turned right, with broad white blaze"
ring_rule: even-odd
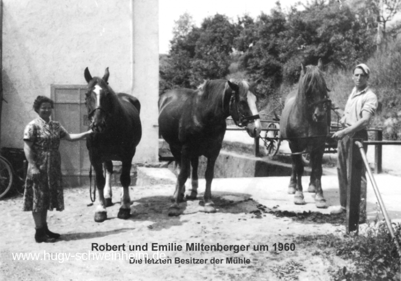
[[[231,117],[236,125],[246,127],[251,137],[258,136],[262,126],[256,108],[256,95],[253,93],[253,87],[247,81],[239,83],[227,81],[227,84],[225,92],[231,89],[229,105]]]

